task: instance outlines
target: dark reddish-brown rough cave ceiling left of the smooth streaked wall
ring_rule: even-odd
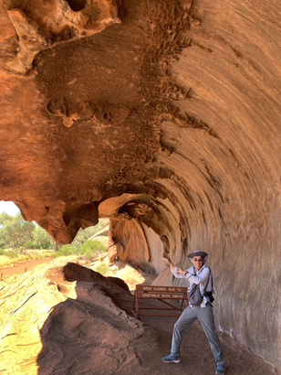
[[[191,45],[192,3],[39,5],[2,5],[1,198],[68,243],[108,198],[140,194],[153,210],[169,194],[161,124],[189,98],[172,62]]]

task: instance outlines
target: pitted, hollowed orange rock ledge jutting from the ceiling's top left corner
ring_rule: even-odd
[[[40,50],[88,37],[120,22],[111,0],[5,0],[4,5],[15,32],[5,40],[3,64],[18,74],[31,70]]]

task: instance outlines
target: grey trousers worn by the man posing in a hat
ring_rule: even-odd
[[[200,305],[189,305],[183,310],[182,316],[179,317],[173,327],[171,353],[175,356],[180,355],[182,336],[186,329],[190,327],[196,319],[199,320],[205,335],[209,340],[216,363],[218,365],[224,365],[224,353],[220,340],[214,330],[213,308],[209,303],[205,307],[201,307]]]

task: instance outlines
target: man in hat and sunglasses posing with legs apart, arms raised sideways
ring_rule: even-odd
[[[205,265],[208,254],[206,252],[196,251],[189,254],[188,258],[193,264],[193,267],[188,270],[175,267],[168,259],[161,258],[163,262],[170,265],[171,272],[175,277],[182,277],[189,280],[189,291],[193,290],[195,284],[199,285],[200,294],[203,296],[203,301],[200,305],[191,305],[190,303],[183,310],[182,316],[179,317],[173,327],[171,354],[167,357],[163,357],[162,360],[165,363],[180,363],[180,346],[183,333],[198,319],[213,351],[213,357],[217,364],[215,373],[224,375],[225,359],[220,340],[214,330],[213,306],[210,303],[212,294],[205,293],[213,291],[212,272],[210,268]]]

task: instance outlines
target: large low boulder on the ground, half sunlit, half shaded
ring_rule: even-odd
[[[0,370],[148,373],[130,348],[130,340],[144,334],[141,323],[125,311],[132,295],[120,279],[112,280],[69,263],[2,284]]]

